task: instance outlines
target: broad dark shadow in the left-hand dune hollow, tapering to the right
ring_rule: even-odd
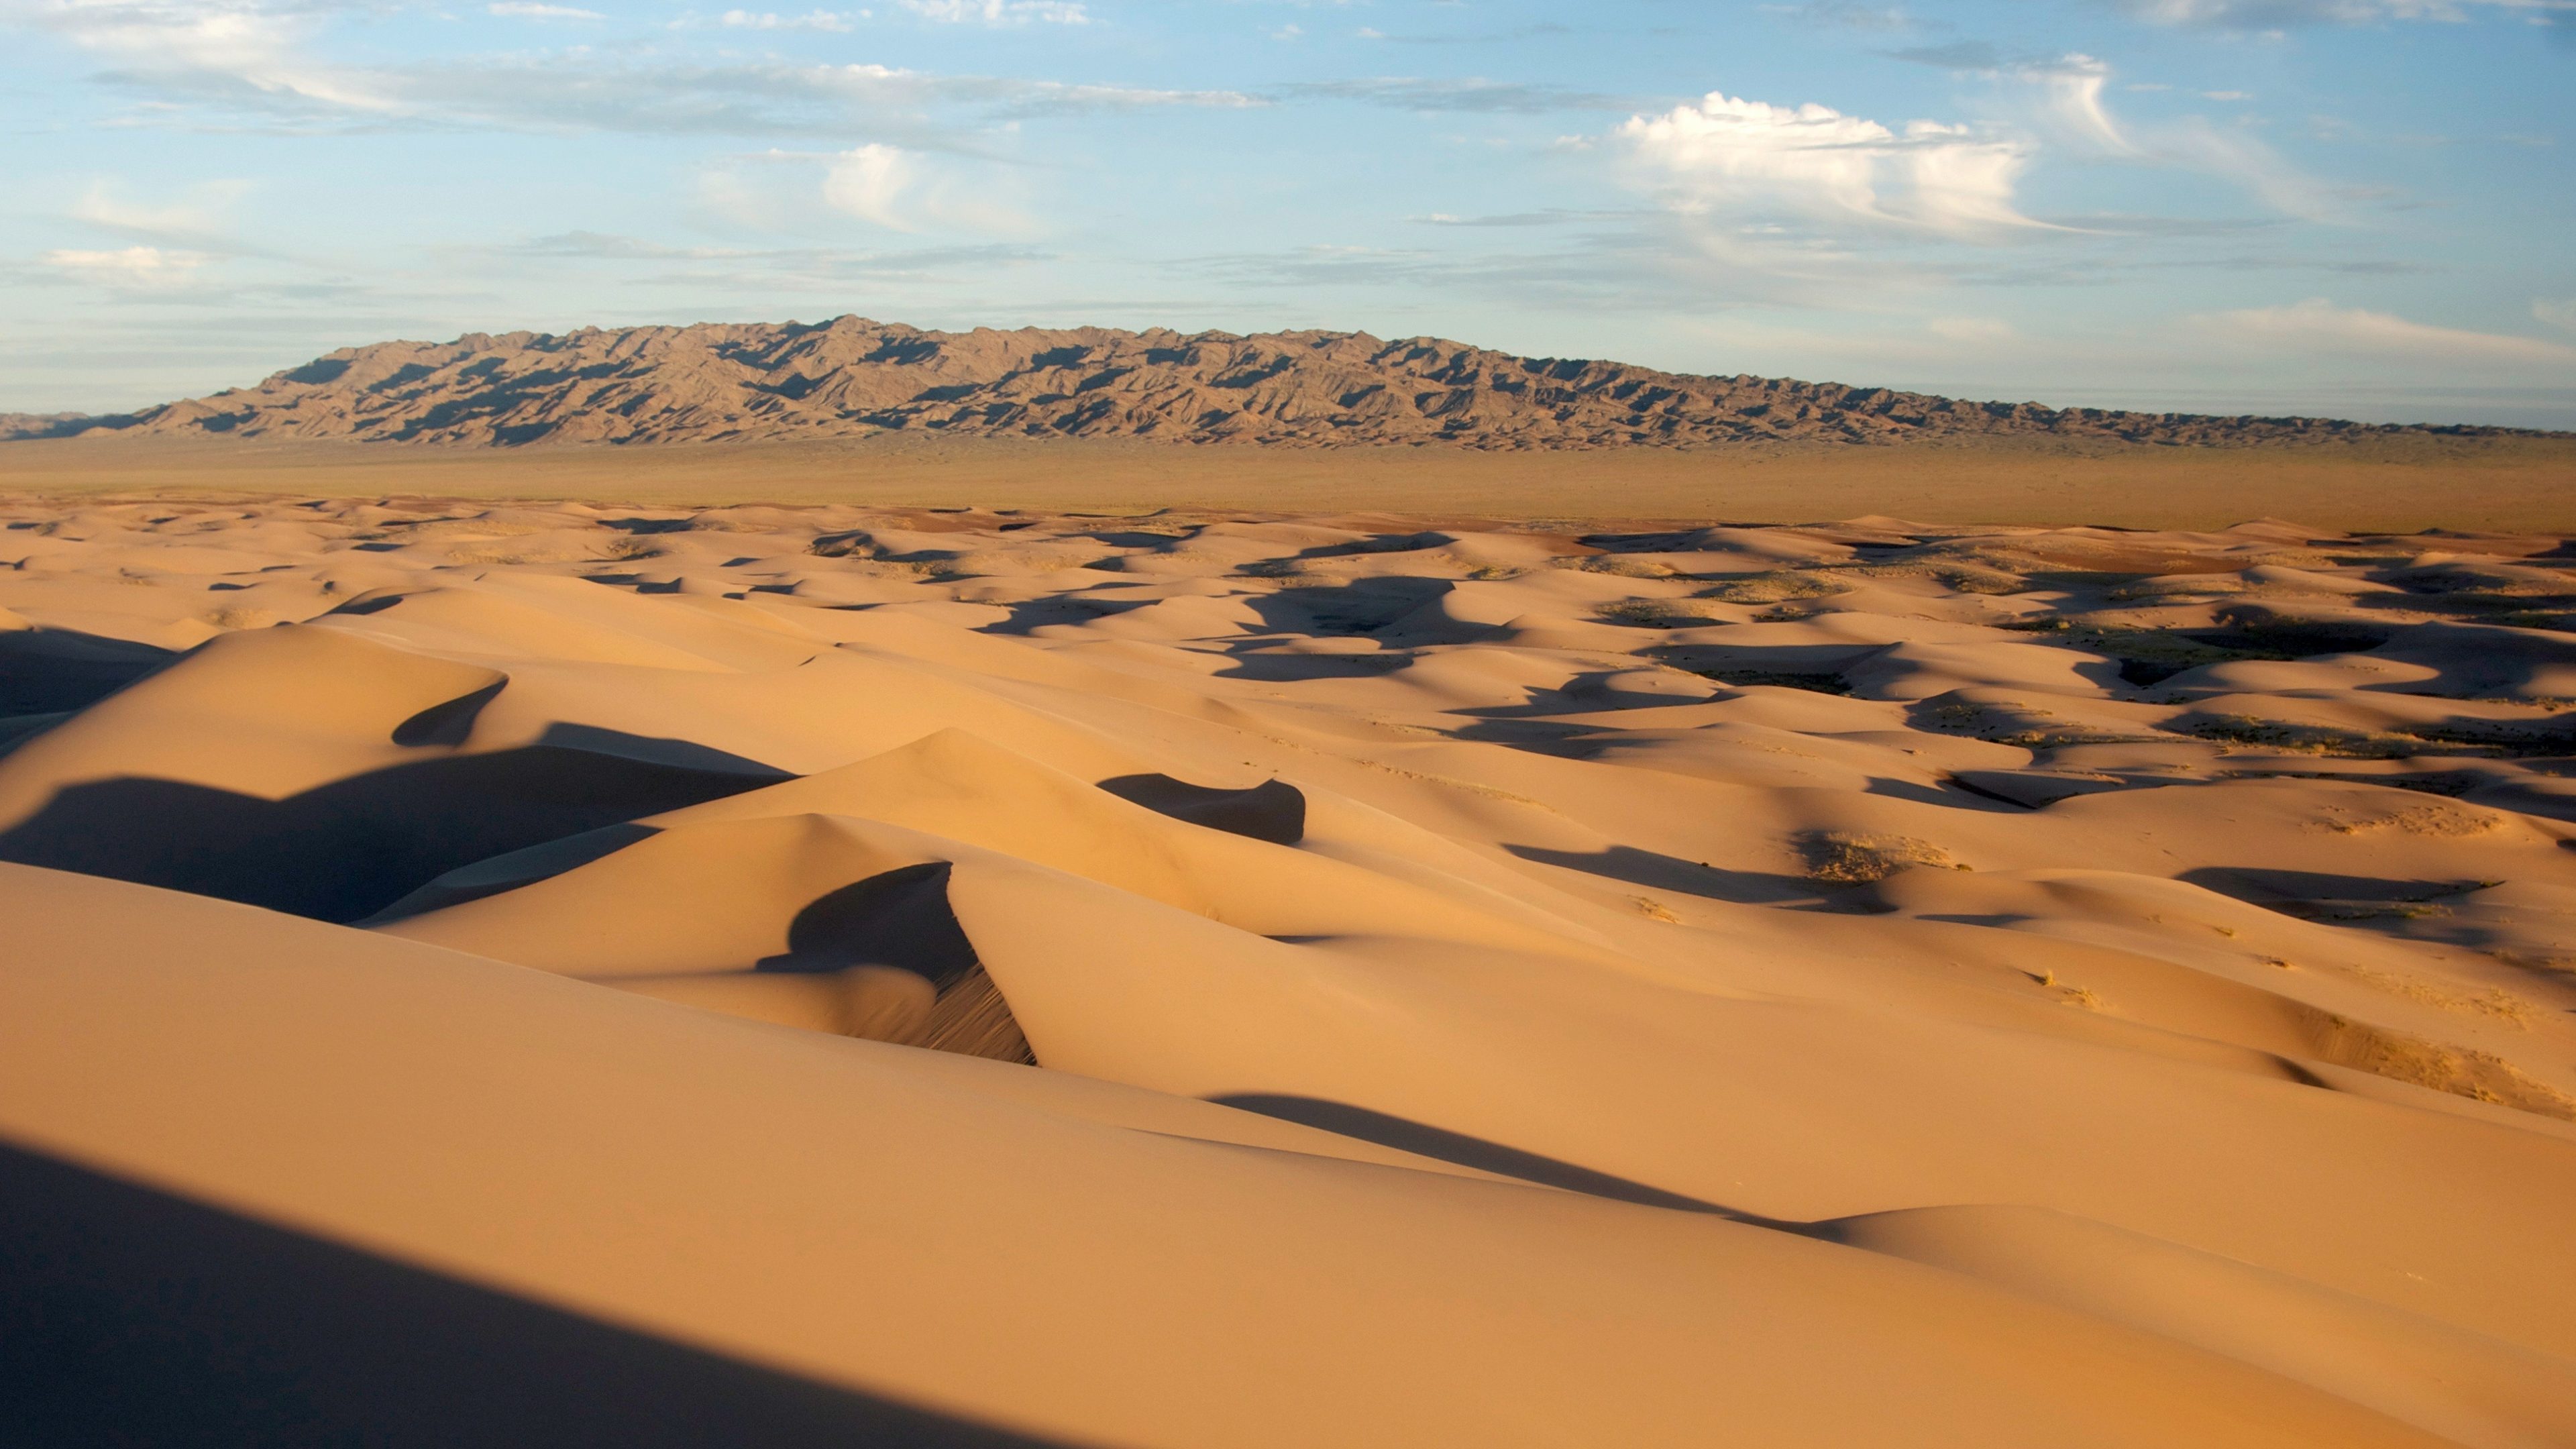
[[[559,724],[286,799],[118,776],[64,786],[0,833],[0,861],[361,920],[459,866],[791,779],[690,745]]]

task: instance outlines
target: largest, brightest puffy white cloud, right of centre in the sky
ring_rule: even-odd
[[[2030,147],[1968,126],[1911,121],[1899,134],[1826,106],[1713,90],[1698,106],[1631,116],[1615,137],[1687,214],[1793,214],[1963,240],[2040,227],[2012,206]]]

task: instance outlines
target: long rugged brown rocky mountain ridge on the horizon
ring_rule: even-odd
[[[1368,333],[925,333],[866,317],[374,343],[327,353],[258,387],[129,415],[0,415],[0,441],[90,431],[479,446],[914,431],[1288,446],[1445,441],[1476,449],[1914,438],[2272,443],[2499,433],[1960,402],[1832,382],[1520,358],[1440,338],[1381,340]]]

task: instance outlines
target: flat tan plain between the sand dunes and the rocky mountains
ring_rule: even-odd
[[[82,436],[0,443],[0,492],[118,490],[935,508],[1388,508],[1479,518],[1886,513],[1945,523],[2576,529],[2576,438],[2362,438],[2254,449],[1909,446],[1463,451],[917,438],[659,446],[379,446]]]

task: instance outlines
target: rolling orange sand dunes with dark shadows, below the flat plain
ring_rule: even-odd
[[[2576,1441],[2561,539],[0,521],[0,1194],[314,1423]]]

